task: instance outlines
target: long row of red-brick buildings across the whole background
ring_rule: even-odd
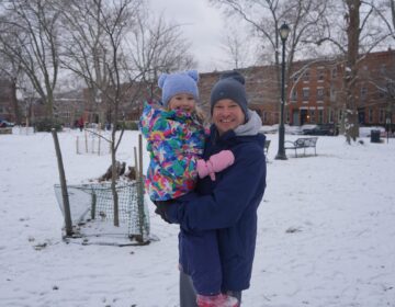
[[[343,112],[341,59],[296,61],[286,84],[285,123],[291,125],[339,123]],[[246,77],[250,109],[256,110],[263,125],[279,123],[280,76],[274,66],[240,69]],[[202,107],[210,111],[210,91],[221,72],[201,73],[199,83]],[[13,120],[10,105],[10,84],[0,80],[0,116]],[[121,117],[137,121],[147,100],[158,100],[160,90],[154,84],[125,84],[121,101]],[[354,87],[361,125],[382,125],[391,118],[395,123],[395,50],[371,53],[359,62]],[[41,117],[41,104],[34,106],[33,117]],[[88,89],[83,92],[58,94],[55,115],[66,125],[82,116],[84,122],[105,123],[112,114],[104,95],[93,100]]]

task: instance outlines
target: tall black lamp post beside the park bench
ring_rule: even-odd
[[[281,64],[281,109],[280,109],[280,126],[279,126],[279,151],[275,156],[276,160],[286,160],[284,148],[284,104],[285,104],[285,42],[290,34],[290,26],[284,22],[280,27],[280,37],[282,43],[282,64]]]

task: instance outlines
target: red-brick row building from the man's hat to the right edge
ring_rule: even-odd
[[[343,112],[341,59],[296,61],[285,90],[285,123],[291,125],[338,123]],[[279,123],[280,78],[274,66],[240,69],[246,77],[250,107],[263,125]],[[201,75],[201,96],[208,103],[210,89],[219,72]],[[395,52],[371,53],[362,57],[354,95],[361,125],[395,123]]]

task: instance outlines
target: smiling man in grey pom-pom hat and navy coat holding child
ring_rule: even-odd
[[[232,71],[221,77],[211,93],[211,134],[204,159],[221,150],[232,150],[232,167],[198,182],[193,193],[163,206],[162,217],[180,224],[180,306],[196,306],[189,263],[195,254],[183,240],[191,230],[216,229],[222,292],[241,303],[241,292],[249,288],[257,237],[257,208],[266,187],[264,136],[261,121],[248,110],[244,77]]]

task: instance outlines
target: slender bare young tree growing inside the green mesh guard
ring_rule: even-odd
[[[119,137],[116,130],[122,117],[121,103],[131,94],[127,88],[142,76],[140,71],[127,65],[124,39],[136,23],[140,5],[140,0],[67,0],[58,7],[65,21],[63,65],[86,82],[95,102],[100,100],[109,109],[115,226],[120,225],[116,151],[123,129]],[[137,95],[136,92],[134,94]],[[128,100],[134,101],[135,98]]]

